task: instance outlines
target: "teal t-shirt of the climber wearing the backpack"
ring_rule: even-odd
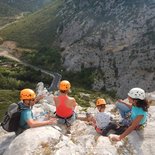
[[[28,129],[29,126],[27,125],[27,121],[29,119],[33,119],[33,113],[32,113],[32,110],[28,107],[24,107],[23,109],[24,110],[21,112],[19,124],[22,128]]]

